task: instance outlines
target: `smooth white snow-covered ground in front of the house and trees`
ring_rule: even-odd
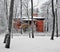
[[[14,36],[10,49],[5,48],[4,35],[0,35],[0,52],[60,52],[60,37],[50,40],[50,36]]]

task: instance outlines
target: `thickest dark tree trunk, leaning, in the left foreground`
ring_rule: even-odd
[[[13,19],[13,7],[14,7],[14,0],[11,0],[10,3],[10,15],[9,15],[9,25],[8,25],[8,36],[6,40],[5,48],[10,48],[10,40],[11,40],[11,28],[12,28],[12,19]]]

